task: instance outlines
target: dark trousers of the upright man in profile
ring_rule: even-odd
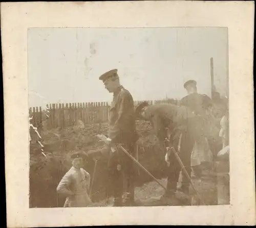
[[[123,144],[123,147],[134,157],[134,144]],[[118,170],[118,167],[121,169]],[[134,161],[122,150],[118,150],[114,153],[110,152],[108,173],[109,181],[107,195],[115,198],[121,198],[124,192],[130,192],[131,198],[133,199],[136,174]]]

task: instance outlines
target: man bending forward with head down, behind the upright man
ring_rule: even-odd
[[[180,132],[187,128],[187,119],[195,118],[195,114],[187,107],[179,107],[172,104],[148,105],[143,102],[136,107],[136,116],[142,120],[149,120],[153,126],[154,134],[157,136],[162,155],[165,155],[165,161],[169,164],[167,169],[167,191],[165,191],[161,200],[173,200],[181,170],[173,153],[166,150],[167,147],[174,146],[178,151]],[[195,128],[196,131],[196,128]],[[169,139],[170,142],[165,141]],[[182,147],[183,149],[183,147]],[[182,160],[184,160],[181,157]]]

